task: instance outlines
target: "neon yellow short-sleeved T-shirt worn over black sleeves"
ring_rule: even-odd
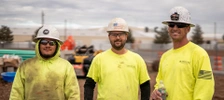
[[[93,59],[87,76],[98,83],[98,100],[138,100],[139,85],[150,79],[141,56],[111,49]]]

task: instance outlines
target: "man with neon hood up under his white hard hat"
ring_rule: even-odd
[[[56,28],[44,25],[35,38],[36,56],[22,62],[10,100],[80,100],[73,66],[59,57],[62,41]]]

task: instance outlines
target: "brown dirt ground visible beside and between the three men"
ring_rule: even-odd
[[[151,89],[153,89],[153,84],[155,84],[155,77],[157,75],[156,72],[149,72],[151,77]],[[215,79],[215,93],[212,100],[224,100],[224,75],[220,74],[214,74]],[[79,78],[79,85],[81,90],[81,100],[84,100],[83,98],[83,85],[85,83],[85,78]],[[7,83],[0,80],[0,100],[9,100],[10,90],[11,90],[12,83]],[[212,88],[212,87],[211,87]],[[96,98],[96,91],[95,91],[95,97]]]

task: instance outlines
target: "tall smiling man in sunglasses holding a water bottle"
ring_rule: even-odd
[[[184,7],[174,7],[170,19],[162,23],[168,25],[168,33],[173,48],[166,51],[159,64],[153,100],[162,100],[158,91],[160,81],[165,86],[166,100],[212,100],[214,77],[207,52],[189,41],[187,34],[191,27],[189,11]]]

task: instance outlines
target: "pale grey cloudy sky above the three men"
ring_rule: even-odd
[[[129,26],[162,28],[169,11],[183,6],[204,33],[224,34],[224,0],[0,0],[0,25],[10,28],[44,24],[66,28],[106,27],[121,17]]]

